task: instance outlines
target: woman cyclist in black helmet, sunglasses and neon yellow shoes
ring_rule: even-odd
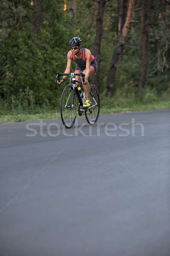
[[[89,49],[81,48],[81,38],[74,37],[69,40],[70,50],[67,53],[67,65],[64,73],[70,73],[72,60],[76,62],[75,73],[81,73],[81,71],[85,74],[83,89],[86,94],[86,102],[83,107],[90,107],[91,101],[89,99],[89,82],[88,78],[92,76],[97,69],[97,62],[95,57],[91,55]],[[58,84],[62,84],[67,76],[63,76]],[[80,76],[76,76],[76,80],[80,81]],[[81,88],[78,87],[80,90]]]

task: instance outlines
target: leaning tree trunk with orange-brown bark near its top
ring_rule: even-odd
[[[127,10],[126,21],[124,23],[123,29],[121,31],[121,35],[119,37],[118,43],[116,45],[115,51],[112,56],[112,62],[111,62],[111,67],[109,70],[108,81],[107,81],[107,96],[112,96],[115,90],[115,73],[118,68],[119,56],[122,53],[124,41],[125,41],[125,38],[127,37],[127,32],[133,17],[134,5],[135,5],[135,0],[130,0],[128,10]]]

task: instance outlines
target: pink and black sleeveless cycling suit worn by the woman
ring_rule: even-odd
[[[72,53],[72,59],[77,63],[76,68],[75,68],[75,72],[76,71],[83,71],[86,68],[85,48],[81,48],[81,49],[82,49],[82,58],[81,59],[75,58],[75,55]],[[91,66],[96,71],[96,69],[97,69],[97,62],[96,62],[95,57],[93,55],[91,57],[91,65],[90,65],[90,67]]]

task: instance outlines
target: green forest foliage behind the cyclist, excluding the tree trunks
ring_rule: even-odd
[[[64,3],[67,3],[65,11]],[[76,0],[75,18],[69,15],[69,4],[70,0],[0,1],[1,113],[6,108],[34,111],[44,104],[46,108],[58,108],[63,87],[55,83],[55,75],[58,70],[65,70],[69,38],[81,36],[82,46],[91,52],[95,39],[98,3]],[[106,89],[111,57],[118,41],[119,4],[120,1],[110,0],[105,5],[101,93]],[[140,8],[139,2],[135,8]],[[159,2],[152,8],[147,83],[142,94],[145,102],[151,99],[156,101],[158,96],[169,90],[170,81],[167,5]],[[141,69],[140,11],[134,13],[133,19],[136,22],[131,24],[116,73],[115,93],[122,97],[136,97]],[[72,71],[74,68],[75,63],[72,64]]]

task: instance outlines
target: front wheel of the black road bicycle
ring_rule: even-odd
[[[77,116],[77,97],[71,85],[67,85],[61,95],[60,113],[63,125],[71,128]]]

